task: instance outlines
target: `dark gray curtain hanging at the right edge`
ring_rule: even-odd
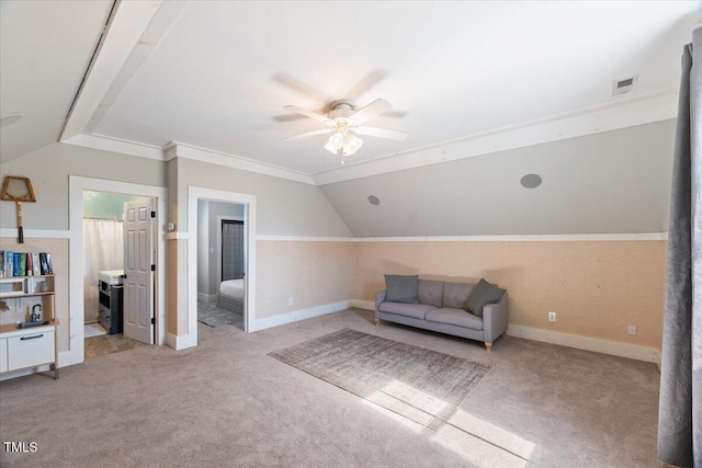
[[[684,47],[660,365],[658,457],[702,467],[702,28]]]

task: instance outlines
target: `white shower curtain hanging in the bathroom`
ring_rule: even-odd
[[[114,219],[83,219],[83,294],[86,323],[98,321],[100,290],[98,272],[124,267],[122,221]]]

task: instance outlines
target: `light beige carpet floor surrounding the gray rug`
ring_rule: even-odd
[[[492,366],[438,431],[271,358],[343,328]],[[660,467],[656,365],[517,338],[373,326],[349,309],[256,333],[197,327],[0,383],[1,467]],[[414,424],[414,425],[412,425]]]

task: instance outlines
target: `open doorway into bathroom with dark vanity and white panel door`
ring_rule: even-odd
[[[151,197],[83,191],[87,359],[155,342],[154,206]]]

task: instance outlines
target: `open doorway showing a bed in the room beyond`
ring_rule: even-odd
[[[197,201],[197,321],[244,331],[245,205]]]

